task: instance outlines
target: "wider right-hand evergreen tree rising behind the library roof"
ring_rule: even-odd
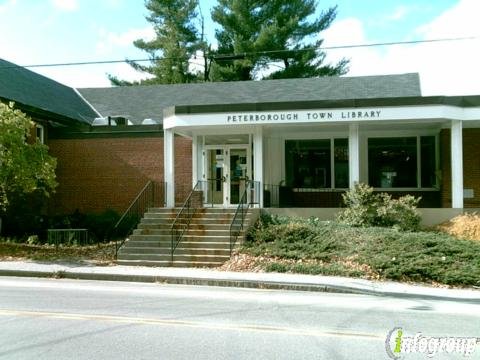
[[[263,78],[299,78],[343,75],[348,60],[324,64],[319,33],[326,30],[337,7],[316,12],[315,0],[219,0],[212,18],[218,52],[212,67],[215,80],[252,80],[272,63],[282,64]],[[232,56],[233,55],[233,56]]]

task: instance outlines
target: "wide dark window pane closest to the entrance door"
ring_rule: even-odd
[[[330,140],[285,141],[285,170],[288,186],[328,188],[331,186]]]

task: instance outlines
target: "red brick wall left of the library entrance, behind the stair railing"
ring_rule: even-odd
[[[163,138],[61,139],[48,142],[58,159],[52,214],[114,209],[120,213],[148,180],[163,181]],[[191,140],[175,138],[175,179],[191,189]],[[179,194],[180,198],[182,195]]]

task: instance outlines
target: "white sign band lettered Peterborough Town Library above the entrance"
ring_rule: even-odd
[[[225,114],[226,122],[234,123],[271,123],[271,122],[310,122],[380,119],[381,110],[332,110],[332,111],[295,111],[295,112],[259,112]]]

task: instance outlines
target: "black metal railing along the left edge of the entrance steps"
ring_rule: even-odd
[[[110,234],[110,238],[115,237],[115,257],[117,257],[118,250],[125,243],[127,236],[137,227],[148,208],[165,206],[166,187],[167,185],[164,182],[148,181],[123,213]],[[121,240],[119,241],[119,239]]]

